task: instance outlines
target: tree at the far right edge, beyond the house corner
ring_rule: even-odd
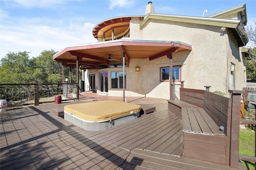
[[[249,40],[254,44],[252,53],[246,59],[247,78],[251,78],[252,81],[256,82],[256,21],[254,21],[254,26],[250,25],[246,31]]]

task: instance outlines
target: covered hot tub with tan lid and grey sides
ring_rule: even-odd
[[[88,131],[110,129],[139,115],[140,105],[111,100],[64,106],[64,119]]]

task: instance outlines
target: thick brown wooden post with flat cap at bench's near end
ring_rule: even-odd
[[[240,131],[240,100],[242,90],[228,90],[232,98],[231,109],[231,135],[230,135],[230,158],[229,165],[231,168],[238,168],[239,162],[239,131]]]

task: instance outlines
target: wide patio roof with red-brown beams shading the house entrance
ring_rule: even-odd
[[[149,41],[119,39],[103,41],[84,45],[66,47],[54,55],[54,60],[63,63],[64,66],[76,66],[77,57],[79,63],[85,64],[86,69],[97,68],[99,64],[107,63],[109,55],[113,61],[122,61],[125,53],[125,61],[129,64],[130,58],[148,58],[150,60],[169,55],[178,51],[192,50],[192,46],[180,41]]]

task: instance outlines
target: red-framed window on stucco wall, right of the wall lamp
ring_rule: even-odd
[[[161,67],[161,81],[169,80],[169,74],[170,74],[170,67]],[[180,81],[180,66],[173,66],[172,67],[172,80],[174,81]]]

